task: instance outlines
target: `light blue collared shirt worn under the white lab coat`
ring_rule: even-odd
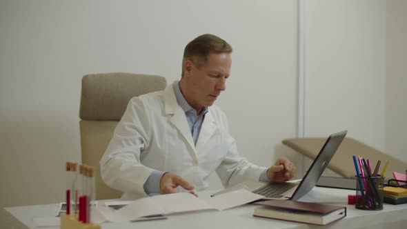
[[[175,97],[177,98],[177,102],[179,106],[181,106],[182,110],[185,112],[186,120],[188,121],[188,126],[190,128],[192,139],[194,140],[195,145],[197,144],[197,140],[199,137],[199,132],[201,132],[201,127],[203,123],[203,119],[205,119],[206,113],[208,113],[208,108],[203,108],[201,114],[197,115],[197,110],[192,108],[188,102],[186,101],[185,97],[181,93],[181,89],[179,89],[179,81],[176,81],[173,85]],[[160,193],[160,181],[161,177],[164,175],[165,172],[155,170],[152,174],[148,177],[146,183],[144,183],[144,192],[148,195],[157,195]],[[261,172],[259,177],[260,181],[269,182],[270,179],[267,177],[267,170]]]

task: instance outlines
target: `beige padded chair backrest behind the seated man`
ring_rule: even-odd
[[[97,171],[96,199],[117,199],[122,193],[101,180],[99,161],[128,101],[148,92],[164,90],[166,78],[129,73],[87,74],[82,79],[79,126],[82,163]]]

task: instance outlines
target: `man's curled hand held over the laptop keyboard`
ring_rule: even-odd
[[[267,177],[272,182],[285,182],[294,177],[297,168],[286,157],[279,157],[267,171]]]

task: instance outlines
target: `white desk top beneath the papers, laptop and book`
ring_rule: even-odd
[[[208,197],[212,192],[202,193],[201,197]],[[135,223],[103,223],[103,229],[117,228],[407,228],[407,204],[384,205],[384,210],[358,210],[355,206],[348,206],[348,194],[355,194],[353,190],[339,190],[315,187],[301,201],[317,201],[335,203],[347,206],[347,216],[328,226],[312,226],[304,223],[293,223],[275,219],[253,217],[252,213],[258,206],[245,205],[224,211],[199,211],[168,215],[168,219],[157,221],[140,221]],[[104,201],[99,201],[102,207]],[[50,217],[57,211],[58,204],[39,206],[22,206],[5,208],[28,228],[34,228],[34,217]]]

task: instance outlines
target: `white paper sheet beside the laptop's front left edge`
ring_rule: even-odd
[[[208,205],[216,208],[217,210],[225,210],[240,206],[245,203],[250,203],[261,199],[263,196],[257,195],[245,189],[239,189],[232,192],[227,192],[216,197],[204,199]]]

